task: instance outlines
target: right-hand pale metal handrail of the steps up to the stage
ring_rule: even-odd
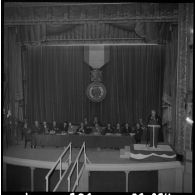
[[[78,160],[79,160],[80,155],[81,155],[82,152],[84,152],[84,164],[83,164],[83,166],[81,168],[81,171],[78,172]],[[72,175],[75,167],[76,167],[76,170],[77,170],[77,178],[76,178],[75,184],[73,186],[73,190],[78,185],[79,178],[81,176],[81,173],[82,173],[85,165],[86,165],[86,152],[85,152],[85,142],[84,142],[82,147],[81,147],[81,149],[80,149],[80,151],[79,151],[79,153],[78,153],[78,155],[77,155],[77,157],[76,157],[76,160],[74,162],[74,165],[72,166],[72,169],[71,169],[71,171],[70,171],[70,173],[68,175],[68,178],[67,178],[68,179],[68,192],[70,192],[70,178],[71,178],[71,175]]]

